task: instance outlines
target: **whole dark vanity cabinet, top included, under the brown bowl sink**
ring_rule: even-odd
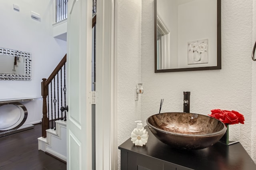
[[[145,128],[149,135],[146,145],[135,146],[128,139],[119,146],[121,170],[256,170],[256,164],[239,142],[180,150],[160,142]]]

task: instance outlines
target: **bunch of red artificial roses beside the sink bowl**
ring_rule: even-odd
[[[234,110],[220,110],[220,109],[213,109],[211,110],[212,114],[208,114],[213,118],[216,118],[222,121],[224,124],[244,124],[244,115],[236,112]]]

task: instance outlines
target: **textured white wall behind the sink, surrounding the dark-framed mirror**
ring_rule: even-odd
[[[245,124],[240,124],[240,131],[238,128],[235,133],[256,162],[255,124],[252,124],[256,117],[252,117],[256,111],[253,102],[256,100],[256,65],[251,59],[253,3],[252,0],[222,0],[221,5],[222,70],[154,73],[153,4],[142,0],[141,79],[144,94],[141,118],[146,125],[146,118],[159,112],[162,98],[162,112],[182,112],[183,91],[190,91],[192,113],[207,115],[210,110],[220,108],[244,114]]]

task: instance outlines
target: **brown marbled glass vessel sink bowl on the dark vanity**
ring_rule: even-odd
[[[155,114],[146,123],[160,141],[174,148],[188,150],[212,146],[227,129],[224,123],[210,116],[184,112]]]

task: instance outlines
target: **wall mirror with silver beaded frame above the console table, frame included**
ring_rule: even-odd
[[[31,80],[31,54],[0,47],[0,80]]]

